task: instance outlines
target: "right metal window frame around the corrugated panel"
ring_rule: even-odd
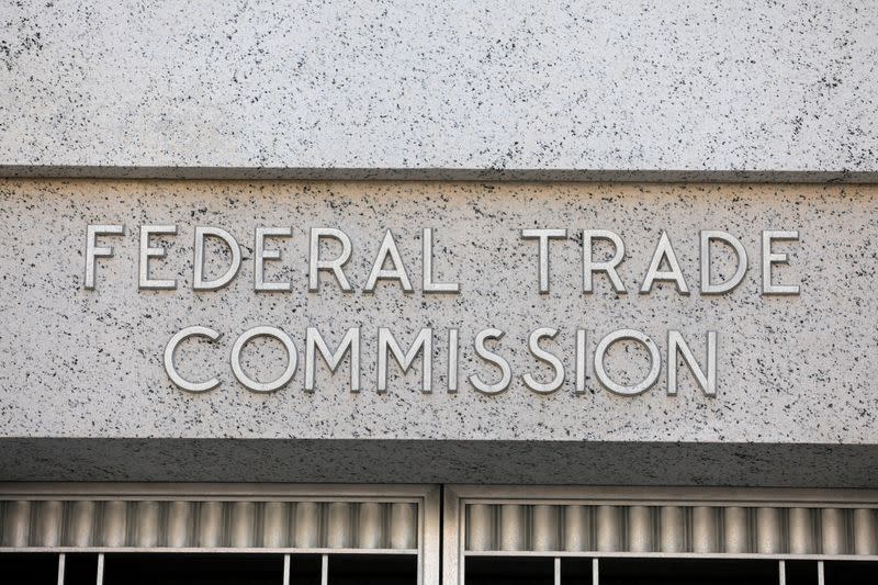
[[[878,508],[878,491],[824,488],[748,487],[631,487],[631,486],[536,486],[536,485],[446,485],[442,503],[442,567],[446,585],[465,583],[466,556],[530,556],[555,559],[555,581],[563,558],[593,559],[595,576],[599,559],[762,559],[818,561],[822,576],[824,561],[878,561],[878,554],[792,553],[696,553],[696,552],[598,552],[598,551],[466,551],[465,510],[470,504],[585,505],[585,506],[712,506],[767,508]],[[781,578],[783,581],[783,578]]]

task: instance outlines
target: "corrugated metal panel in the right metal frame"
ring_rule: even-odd
[[[469,504],[466,551],[875,555],[874,508]]]

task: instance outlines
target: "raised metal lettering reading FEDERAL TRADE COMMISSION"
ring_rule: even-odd
[[[442,293],[460,294],[460,285],[454,282],[438,282],[434,277],[434,254],[435,229],[425,228],[421,230],[421,279],[420,288],[424,294]],[[178,288],[176,279],[155,278],[151,273],[150,263],[166,258],[167,249],[157,246],[155,237],[173,237],[178,233],[176,225],[142,225],[139,226],[139,254],[138,254],[138,288],[140,290],[173,290]],[[122,224],[101,224],[89,225],[87,229],[86,245],[86,267],[85,267],[85,288],[94,290],[97,288],[97,260],[99,258],[109,259],[114,256],[113,246],[101,245],[99,238],[106,236],[122,236],[125,227]],[[626,247],[622,238],[607,229],[583,229],[581,230],[583,241],[583,272],[582,288],[583,294],[594,292],[594,277],[603,274],[609,285],[617,294],[628,292],[622,282],[618,267],[626,258]],[[254,237],[254,290],[284,292],[292,290],[291,282],[269,281],[266,278],[266,262],[281,260],[280,249],[268,246],[270,238],[290,238],[293,230],[290,227],[257,227]],[[216,278],[209,279],[205,275],[205,246],[209,238],[217,240],[228,250],[228,266],[225,272]],[[534,282],[540,294],[550,291],[550,254],[552,244],[569,238],[566,229],[554,228],[533,228],[520,232],[522,240],[532,241],[532,249],[536,252]],[[799,234],[796,230],[763,230],[762,232],[762,294],[799,294],[799,286],[792,284],[778,284],[773,278],[773,268],[776,265],[788,263],[788,255],[774,249],[775,243],[780,240],[798,240]],[[320,273],[325,272],[333,277],[335,284],[344,292],[353,292],[345,267],[350,260],[353,245],[350,237],[341,229],[334,227],[314,227],[309,229],[308,236],[308,282],[307,290],[317,292],[320,288]],[[324,254],[323,244],[331,240],[339,250],[335,255]],[[701,230],[699,233],[700,246],[700,281],[699,291],[703,295],[724,294],[732,291],[741,281],[747,270],[747,255],[741,241],[733,235],[722,230]],[[595,259],[595,244],[600,243],[609,246],[611,254],[609,258]],[[728,247],[734,255],[735,269],[731,277],[717,282],[712,277],[711,261],[712,247],[716,245]],[[194,259],[192,270],[192,288],[196,291],[215,291],[230,283],[238,274],[243,256],[240,245],[235,237],[227,230],[213,226],[196,226],[194,229],[193,241]],[[404,293],[414,292],[414,286],[409,278],[409,271],[403,262],[402,255],[397,246],[396,238],[392,230],[386,230],[378,248],[371,270],[362,288],[364,293],[374,293],[380,281],[390,282],[398,285]],[[677,255],[671,243],[668,235],[661,232],[644,278],[638,288],[641,294],[649,294],[654,283],[667,282],[676,288],[679,294],[689,294],[690,289],[680,270]],[[541,394],[549,394],[558,391],[564,383],[565,369],[562,360],[543,345],[547,340],[553,340],[559,335],[559,330],[551,327],[539,327],[533,329],[528,337],[528,349],[536,360],[548,365],[552,370],[552,375],[539,379],[531,373],[525,373],[521,379],[525,385]],[[472,349],[474,355],[480,358],[488,368],[493,370],[492,375],[484,372],[473,373],[466,381],[474,390],[484,394],[499,394],[509,387],[513,373],[508,360],[494,351],[494,346],[502,339],[504,331],[496,328],[484,328],[479,330],[473,340]],[[175,334],[165,347],[164,364],[170,380],[180,389],[189,392],[206,392],[217,387],[221,382],[218,378],[211,376],[203,381],[192,381],[184,379],[178,371],[176,364],[176,350],[185,339],[191,337],[203,337],[212,342],[219,339],[221,334],[206,326],[185,327]],[[260,382],[244,371],[241,365],[241,350],[254,338],[273,338],[284,347],[286,352],[286,368],[275,380]],[[414,341],[407,349],[404,349],[394,334],[384,327],[378,328],[378,364],[375,390],[379,393],[387,392],[387,370],[389,361],[392,357],[403,372],[407,372],[420,358],[421,361],[421,391],[432,392],[432,359],[435,331],[431,328],[423,328],[415,336]],[[458,392],[459,389],[459,363],[460,363],[460,334],[457,328],[447,330],[446,341],[448,349],[448,373],[446,376],[446,391]],[[594,368],[595,376],[598,382],[612,393],[626,396],[641,394],[652,387],[658,379],[662,356],[655,341],[642,331],[630,328],[622,328],[610,331],[603,336],[590,359],[586,356],[588,348],[586,345],[587,331],[576,330],[575,350],[575,392],[586,392],[587,372]],[[677,370],[678,361],[683,363],[694,374],[695,380],[701,391],[707,396],[716,396],[717,393],[717,333],[707,331],[705,336],[706,357],[700,361],[696,359],[689,344],[677,330],[667,331],[666,344],[666,364],[667,364],[667,394],[677,393]],[[315,387],[316,358],[319,355],[331,372],[335,372],[345,360],[350,365],[350,391],[359,392],[360,382],[360,346],[361,330],[359,327],[348,329],[340,342],[330,348],[324,336],[316,327],[308,327],[305,336],[305,363],[304,363],[304,390],[313,392]],[[620,341],[635,342],[642,346],[649,356],[649,373],[646,376],[632,384],[622,384],[608,375],[605,367],[605,357],[609,348]],[[299,364],[299,352],[293,339],[278,327],[260,326],[254,327],[237,337],[230,350],[232,371],[238,382],[247,390],[252,392],[275,392],[293,380]],[[487,380],[486,380],[487,378]],[[543,376],[544,378],[544,376]]]

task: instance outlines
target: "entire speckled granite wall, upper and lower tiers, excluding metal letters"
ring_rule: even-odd
[[[865,0],[3,3],[0,480],[875,487],[876,22]],[[93,289],[89,224],[125,228],[95,239],[114,256]],[[138,285],[144,225],[176,226],[148,244],[167,254],[148,278],[175,289]],[[221,290],[193,290],[198,226],[240,245]],[[281,259],[266,278],[289,291],[255,291],[259,226],[292,234],[267,240]],[[327,273],[308,291],[312,227],[350,236],[352,292]],[[436,280],[460,293],[423,293],[424,228]],[[544,294],[533,228],[566,230]],[[412,292],[364,291],[386,229]],[[623,240],[624,294],[606,275],[584,293],[584,229]],[[731,292],[703,294],[705,229],[747,256]],[[689,294],[639,292],[663,230]],[[797,232],[768,247],[789,260],[773,282],[798,294],[763,294],[766,230]],[[734,278],[730,248],[713,254]],[[214,238],[207,274],[229,260]],[[175,352],[182,376],[219,381],[199,394],[162,359],[195,325],[221,334]],[[259,325],[296,348],[272,393],[229,363]],[[347,362],[319,358],[305,390],[308,327],[330,346],[360,328],[359,392]],[[403,348],[432,330],[431,392],[423,357],[407,374],[391,358],[379,392],[382,327]],[[547,393],[522,378],[553,380],[528,349],[540,327],[564,368]],[[486,344],[509,363],[497,395],[470,378],[502,373],[475,355],[486,328],[505,333]],[[623,328],[658,355],[635,396],[594,368]],[[674,331],[701,367],[716,331],[716,385],[669,351]],[[263,382],[286,363],[266,339],[241,356]],[[648,358],[615,344],[608,376],[650,378]]]

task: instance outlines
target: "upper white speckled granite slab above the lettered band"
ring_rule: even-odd
[[[875,182],[876,22],[868,0],[3,2],[0,173]]]

